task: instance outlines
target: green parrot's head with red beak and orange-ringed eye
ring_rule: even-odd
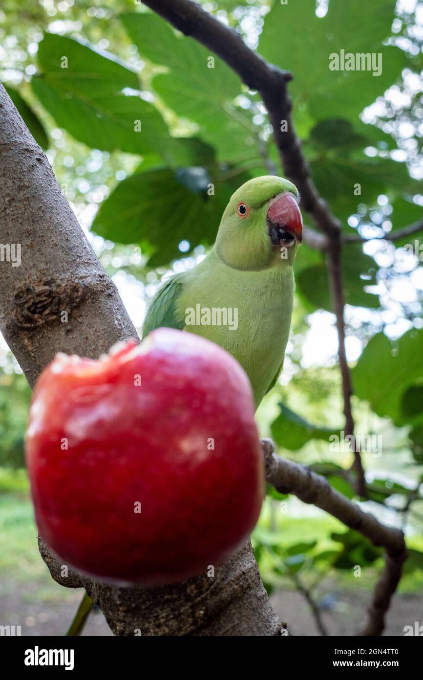
[[[243,184],[223,213],[216,251],[228,267],[257,271],[291,266],[303,235],[297,188],[265,175]]]

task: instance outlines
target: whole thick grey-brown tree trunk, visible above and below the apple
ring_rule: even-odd
[[[60,192],[50,164],[0,84],[0,243],[20,244],[22,264],[0,265],[0,330],[29,384],[56,352],[97,358],[137,337],[117,290]],[[67,322],[62,322],[67,312]],[[82,585],[116,635],[289,634],[270,605],[246,543],[204,576],[164,588],[112,588],[80,577],[41,541],[61,585]]]

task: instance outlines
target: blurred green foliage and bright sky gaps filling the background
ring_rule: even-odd
[[[407,526],[415,540],[423,522],[423,255],[407,253],[407,239],[376,239],[422,216],[423,4],[203,4],[292,71],[293,117],[314,182],[346,233],[375,239],[346,247],[342,263],[347,343],[359,345],[354,415],[358,434],[383,437],[383,455],[363,453],[367,505]],[[213,243],[240,184],[267,174],[270,163],[280,168],[257,93],[140,3],[4,0],[0,39],[1,80],[48,150],[105,269],[123,293],[124,284],[136,290],[140,307],[162,275],[193,267]],[[381,54],[382,73],[331,71],[329,55],[340,50]],[[342,439],[344,421],[335,349],[320,365],[304,351],[313,328],[333,330],[325,258],[303,245],[295,271],[284,375],[259,409],[259,425],[283,455],[310,464],[352,498],[352,453],[329,446],[332,434]],[[12,468],[23,464],[29,398],[16,367],[3,364],[0,490],[25,488]],[[379,568],[380,551],[361,534],[317,511],[312,522],[299,520],[291,501],[270,490],[254,534],[268,590],[286,578],[323,579],[356,564]],[[413,545],[406,568],[422,572],[423,545]]]

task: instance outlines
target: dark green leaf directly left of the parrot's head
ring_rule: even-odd
[[[201,184],[203,170],[155,169],[128,177],[101,205],[93,230],[117,243],[149,245],[153,250],[149,265],[154,267],[181,257],[178,245],[183,240],[191,248],[213,243],[227,201],[249,177],[222,182],[215,195],[208,196]]]

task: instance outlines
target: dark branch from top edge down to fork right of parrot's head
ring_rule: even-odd
[[[267,63],[244,44],[236,31],[224,26],[191,0],[143,0],[143,3],[176,29],[218,54],[238,73],[246,86],[259,91],[268,109],[285,176],[299,189],[301,207],[312,215],[320,231],[327,234],[339,232],[341,224],[314,186],[301,142],[295,134],[292,101],[287,90],[291,73]],[[286,131],[282,121],[287,122]]]

